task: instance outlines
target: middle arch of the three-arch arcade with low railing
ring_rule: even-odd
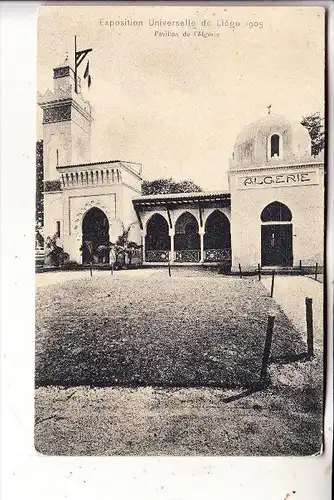
[[[174,248],[176,261],[199,262],[200,237],[198,222],[190,212],[183,213],[176,221]]]

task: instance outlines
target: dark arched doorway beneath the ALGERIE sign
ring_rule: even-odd
[[[261,265],[292,266],[292,214],[278,201],[261,213]]]

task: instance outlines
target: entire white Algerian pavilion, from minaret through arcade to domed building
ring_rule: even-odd
[[[90,158],[91,110],[73,70],[54,69],[43,109],[44,234],[86,264],[124,228],[144,265],[220,265],[228,271],[323,264],[324,161],[308,131],[278,114],[236,139],[229,190],[141,196],[140,164]]]

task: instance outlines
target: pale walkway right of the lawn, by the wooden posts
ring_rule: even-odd
[[[262,277],[262,283],[270,291],[271,277]],[[323,285],[306,276],[275,277],[274,300],[294,327],[303,333],[305,339],[305,298],[313,299],[314,341],[318,350],[321,350],[323,345],[323,294]]]

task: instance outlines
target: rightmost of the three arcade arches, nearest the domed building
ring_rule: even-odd
[[[208,262],[231,261],[230,221],[220,210],[215,210],[206,219],[204,251]]]

